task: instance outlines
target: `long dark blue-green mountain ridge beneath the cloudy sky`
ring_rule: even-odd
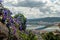
[[[60,17],[46,17],[46,18],[37,18],[37,19],[27,19],[27,22],[60,22]]]

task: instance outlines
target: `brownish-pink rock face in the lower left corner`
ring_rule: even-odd
[[[0,40],[7,40],[8,28],[0,22]]]

